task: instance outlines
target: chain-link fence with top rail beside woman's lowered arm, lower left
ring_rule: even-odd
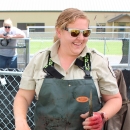
[[[0,69],[0,130],[14,130],[13,101],[19,89],[22,71],[19,69]],[[27,121],[34,129],[35,97],[28,109]]]

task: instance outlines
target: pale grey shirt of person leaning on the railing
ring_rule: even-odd
[[[0,34],[5,34],[5,33],[6,33],[5,28],[1,27]],[[16,27],[11,27],[8,35],[16,35],[16,34],[21,34],[25,37],[25,33],[22,30],[20,30]],[[16,44],[17,44],[17,39],[11,39],[8,44],[8,47],[14,47],[14,46],[16,46]],[[1,47],[1,44],[0,44],[0,47]],[[17,55],[17,51],[16,51],[16,48],[0,49],[0,55],[7,56],[7,57],[13,57],[13,56]]]

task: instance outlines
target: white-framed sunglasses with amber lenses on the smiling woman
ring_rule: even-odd
[[[64,30],[70,32],[72,37],[77,37],[80,33],[82,33],[84,37],[88,37],[91,33],[90,29],[79,30],[79,29],[64,28]]]

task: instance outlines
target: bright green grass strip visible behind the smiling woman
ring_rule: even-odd
[[[31,41],[30,42],[30,53],[34,54],[37,51],[52,46],[52,41]],[[103,40],[89,40],[88,46],[90,48],[95,48],[99,52],[105,54],[105,55],[122,55],[122,41],[110,41],[107,40],[106,43],[104,43]],[[105,45],[105,47],[104,47]]]

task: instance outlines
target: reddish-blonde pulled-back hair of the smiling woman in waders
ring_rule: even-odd
[[[59,15],[55,24],[55,28],[64,29],[68,24],[75,22],[77,18],[86,19],[88,24],[90,22],[83,11],[76,8],[68,8],[63,10],[63,12]],[[59,38],[55,34],[53,41],[56,42],[58,39]]]

